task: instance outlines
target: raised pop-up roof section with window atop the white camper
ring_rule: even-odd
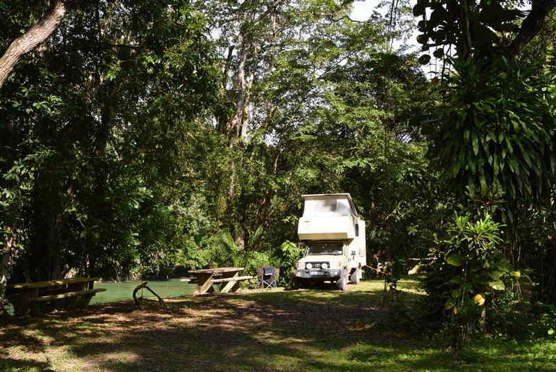
[[[301,195],[303,216],[355,216],[357,211],[349,193]]]

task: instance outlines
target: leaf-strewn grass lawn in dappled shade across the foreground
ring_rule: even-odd
[[[420,296],[412,280],[400,289],[406,305]],[[381,307],[381,296],[382,282],[368,281],[346,292],[250,291],[20,318],[1,325],[0,371],[451,370],[435,331],[400,321],[400,306]],[[556,342],[483,339],[462,359],[461,371],[556,371]]]

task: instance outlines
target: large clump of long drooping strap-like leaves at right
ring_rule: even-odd
[[[555,171],[553,76],[505,58],[452,60],[448,102],[434,114],[430,154],[451,183],[509,200],[537,198]]]

